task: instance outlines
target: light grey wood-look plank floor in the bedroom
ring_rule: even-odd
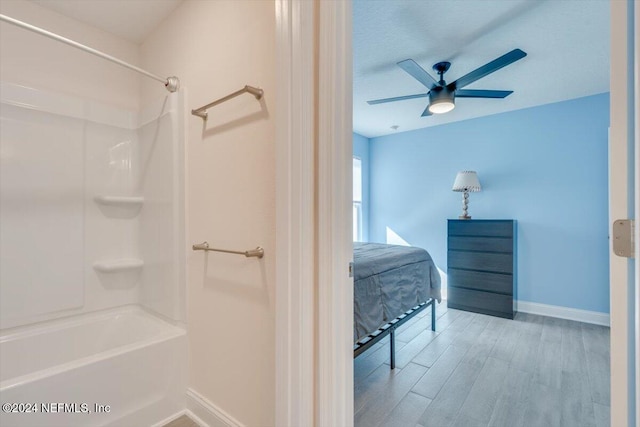
[[[438,305],[354,361],[356,427],[609,426],[609,328]]]

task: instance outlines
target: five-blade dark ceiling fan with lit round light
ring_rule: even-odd
[[[413,59],[405,59],[404,61],[398,62],[398,66],[426,86],[429,91],[426,93],[418,93],[416,95],[376,99],[373,101],[367,101],[367,103],[369,105],[375,105],[383,104],[385,102],[428,97],[429,105],[427,105],[427,108],[425,108],[422,113],[422,117],[425,117],[430,116],[431,114],[442,114],[453,110],[455,107],[455,98],[506,98],[513,93],[512,90],[477,90],[462,88],[488,74],[498,71],[500,68],[506,67],[507,65],[524,58],[525,56],[527,56],[527,54],[522,50],[514,49],[449,84],[444,81],[443,76],[451,66],[450,62],[438,62],[433,66],[434,71],[440,76],[440,80],[436,80]]]

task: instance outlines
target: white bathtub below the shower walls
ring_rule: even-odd
[[[186,333],[136,306],[0,334],[0,425],[161,423],[185,408]]]

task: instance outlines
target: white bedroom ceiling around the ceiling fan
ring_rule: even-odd
[[[609,90],[607,0],[354,0],[353,127],[367,137],[403,132]],[[368,105],[425,93],[396,65],[412,58],[452,82],[515,49],[528,56],[467,89],[513,90],[505,99],[456,99],[450,113],[420,117],[427,99]],[[391,126],[397,125],[393,130]]]

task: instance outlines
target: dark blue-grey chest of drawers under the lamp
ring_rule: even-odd
[[[515,220],[448,221],[448,307],[513,319],[516,230]]]

